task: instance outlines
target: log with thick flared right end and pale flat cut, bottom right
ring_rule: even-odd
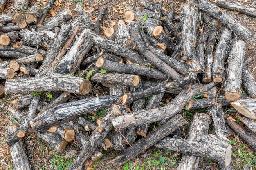
[[[218,137],[204,135],[199,141],[164,138],[154,145],[157,149],[172,150],[197,157],[208,157],[218,163],[228,165],[231,161],[231,145]]]

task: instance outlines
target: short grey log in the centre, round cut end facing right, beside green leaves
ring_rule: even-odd
[[[109,83],[109,84],[122,84],[124,86],[137,86],[140,82],[140,77],[131,74],[117,74],[117,73],[106,73],[106,74],[94,74],[92,82],[98,83]]]

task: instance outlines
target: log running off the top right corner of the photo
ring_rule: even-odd
[[[217,0],[216,5],[231,11],[238,11],[256,18],[256,9],[242,3],[231,2],[230,0]]]

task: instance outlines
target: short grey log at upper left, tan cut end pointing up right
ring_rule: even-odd
[[[40,27],[39,30],[50,30],[56,26],[60,26],[62,23],[67,22],[72,18],[72,12],[69,9],[63,9],[56,13],[52,18],[49,18],[44,22],[44,26]]]

